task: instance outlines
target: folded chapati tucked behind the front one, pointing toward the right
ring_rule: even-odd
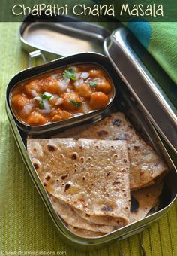
[[[59,133],[57,137],[126,140],[130,160],[130,190],[161,181],[168,167],[148,145],[121,112],[110,114],[98,123],[77,126]]]

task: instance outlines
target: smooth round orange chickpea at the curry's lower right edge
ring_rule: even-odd
[[[92,93],[92,96],[90,99],[90,106],[93,109],[104,108],[107,105],[107,102],[108,102],[108,96],[105,93],[102,93],[102,92]]]

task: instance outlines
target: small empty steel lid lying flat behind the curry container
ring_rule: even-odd
[[[104,39],[110,32],[94,23],[81,23],[63,15],[40,17],[29,14],[20,26],[22,47],[31,52],[41,50],[47,59],[94,51],[104,53]]]

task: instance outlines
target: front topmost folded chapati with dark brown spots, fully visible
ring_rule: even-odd
[[[28,139],[31,162],[53,197],[87,215],[129,223],[127,142],[98,139]]]

